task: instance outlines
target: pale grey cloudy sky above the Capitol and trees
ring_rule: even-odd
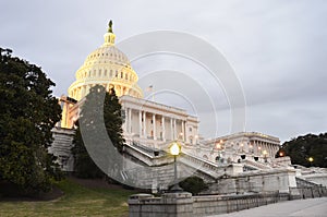
[[[245,96],[244,130],[281,141],[327,131],[327,1],[11,0],[0,8],[0,46],[40,65],[56,82],[57,96],[66,94],[112,19],[118,43],[168,29],[219,50]],[[213,84],[208,70],[167,53],[132,65],[142,88],[154,85],[155,100],[197,114],[204,136],[230,133],[230,98],[223,84]],[[180,88],[162,92],[172,86]]]

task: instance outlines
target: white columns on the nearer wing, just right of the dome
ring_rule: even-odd
[[[137,111],[137,110],[136,110]],[[142,110],[138,110],[138,132],[135,132],[134,129],[132,129],[132,114],[133,114],[133,109],[131,108],[126,108],[125,109],[125,112],[126,112],[126,126],[125,126],[125,130],[128,133],[138,133],[140,137],[144,137],[144,138],[147,138],[147,112],[146,111],[142,111]],[[152,120],[153,120],[153,138],[154,140],[157,140],[157,116],[156,113],[152,113]],[[170,129],[166,129],[166,119],[169,119],[170,120]],[[181,122],[181,128],[182,128],[182,132],[181,133],[181,136],[182,136],[182,140],[185,141],[185,121],[182,120]],[[165,116],[161,116],[161,132],[162,132],[162,140],[164,142],[166,142],[167,140],[167,136],[166,136],[166,133],[167,133],[167,130],[170,130],[170,140],[177,140],[177,138],[181,138],[180,137],[180,134],[178,134],[177,132],[177,119],[174,118],[170,118],[170,117],[165,117]]]

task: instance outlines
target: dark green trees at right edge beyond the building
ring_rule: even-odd
[[[280,157],[279,153],[290,156],[292,164],[302,165],[304,167],[327,167],[327,133],[319,135],[306,134],[284,142],[277,153],[276,157]],[[312,157],[313,161],[308,159]]]

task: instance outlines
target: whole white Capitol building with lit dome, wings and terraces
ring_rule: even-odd
[[[199,135],[199,120],[186,110],[144,99],[137,85],[137,73],[128,57],[114,46],[111,26],[104,35],[104,44],[90,52],[76,71],[76,81],[60,97],[62,120],[53,129],[55,142],[50,152],[58,156],[65,171],[73,171],[71,154],[74,123],[89,88],[102,85],[114,88],[125,113],[123,136],[125,155],[148,167],[171,165],[167,147],[182,144],[179,177],[195,173],[213,183],[214,193],[282,191],[299,185],[327,185],[323,169],[294,168],[289,157],[275,158],[280,147],[278,137],[259,132],[240,132],[206,140]],[[135,161],[135,160],[134,160]],[[299,169],[300,168],[300,169]],[[129,171],[125,176],[143,182],[149,189],[165,188],[171,180],[172,167],[152,174]]]

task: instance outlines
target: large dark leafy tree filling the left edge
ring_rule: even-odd
[[[39,67],[0,48],[0,179],[25,192],[48,191],[59,168],[47,148],[61,108]]]

